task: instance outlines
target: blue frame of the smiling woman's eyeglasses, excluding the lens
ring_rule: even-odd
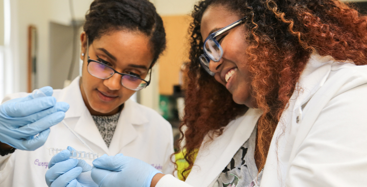
[[[204,69],[212,76],[214,76],[214,72],[210,71],[208,69],[208,66],[206,66],[205,64],[203,64],[200,60],[200,58],[205,58],[207,60],[207,62],[210,63],[210,61],[212,60],[213,62],[219,62],[221,59],[222,59],[222,56],[223,56],[223,48],[222,46],[219,44],[219,42],[217,41],[216,37],[218,37],[219,35],[235,28],[235,26],[238,26],[240,25],[243,21],[247,20],[247,16],[237,20],[237,21],[234,21],[233,23],[225,26],[224,28],[210,34],[208,37],[206,37],[205,41],[204,41],[204,44],[203,44],[203,51],[204,53],[199,57],[199,61],[200,61],[200,64],[202,64],[204,67]],[[209,55],[207,55],[207,51],[206,51],[206,48],[205,48],[205,44],[208,40],[212,39],[212,41],[214,41],[214,43],[218,46],[219,50],[221,51],[221,55],[220,55],[220,58],[218,60],[216,59],[212,59]]]

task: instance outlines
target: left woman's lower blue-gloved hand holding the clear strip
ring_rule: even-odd
[[[46,183],[48,186],[67,187],[97,187],[91,178],[92,166],[83,159],[69,158],[72,147],[67,147],[51,158],[46,172]]]

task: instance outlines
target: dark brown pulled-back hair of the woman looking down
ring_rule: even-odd
[[[89,44],[115,30],[139,31],[150,37],[154,65],[166,48],[166,32],[160,15],[147,0],[95,0],[83,27]]]

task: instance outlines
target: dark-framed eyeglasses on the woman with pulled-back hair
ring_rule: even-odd
[[[121,75],[121,84],[123,87],[129,89],[129,90],[141,90],[145,87],[147,87],[150,84],[150,78],[151,78],[151,68],[150,69],[150,75],[149,75],[149,81],[145,81],[144,79],[130,74],[120,73],[116,71],[115,69],[111,68],[110,66],[107,66],[106,64],[103,64],[102,62],[98,62],[95,60],[92,60],[89,58],[89,44],[88,44],[88,38],[87,38],[87,57],[88,57],[88,72],[94,77],[100,78],[100,79],[108,79],[112,77],[115,73]]]

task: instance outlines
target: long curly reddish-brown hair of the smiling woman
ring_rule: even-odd
[[[200,68],[203,54],[201,18],[209,6],[224,6],[250,19],[245,25],[249,47],[248,69],[257,108],[263,111],[257,122],[255,154],[264,168],[270,141],[280,116],[295,91],[296,83],[312,52],[338,61],[367,64],[367,17],[337,0],[206,0],[192,12],[190,63],[185,118],[180,126],[189,166],[180,171],[185,178],[194,165],[195,152],[206,135],[220,136],[231,120],[247,107],[234,103],[224,86]],[[245,32],[244,31],[244,32]],[[279,123],[281,124],[281,123]],[[183,133],[185,129],[185,133]]]

